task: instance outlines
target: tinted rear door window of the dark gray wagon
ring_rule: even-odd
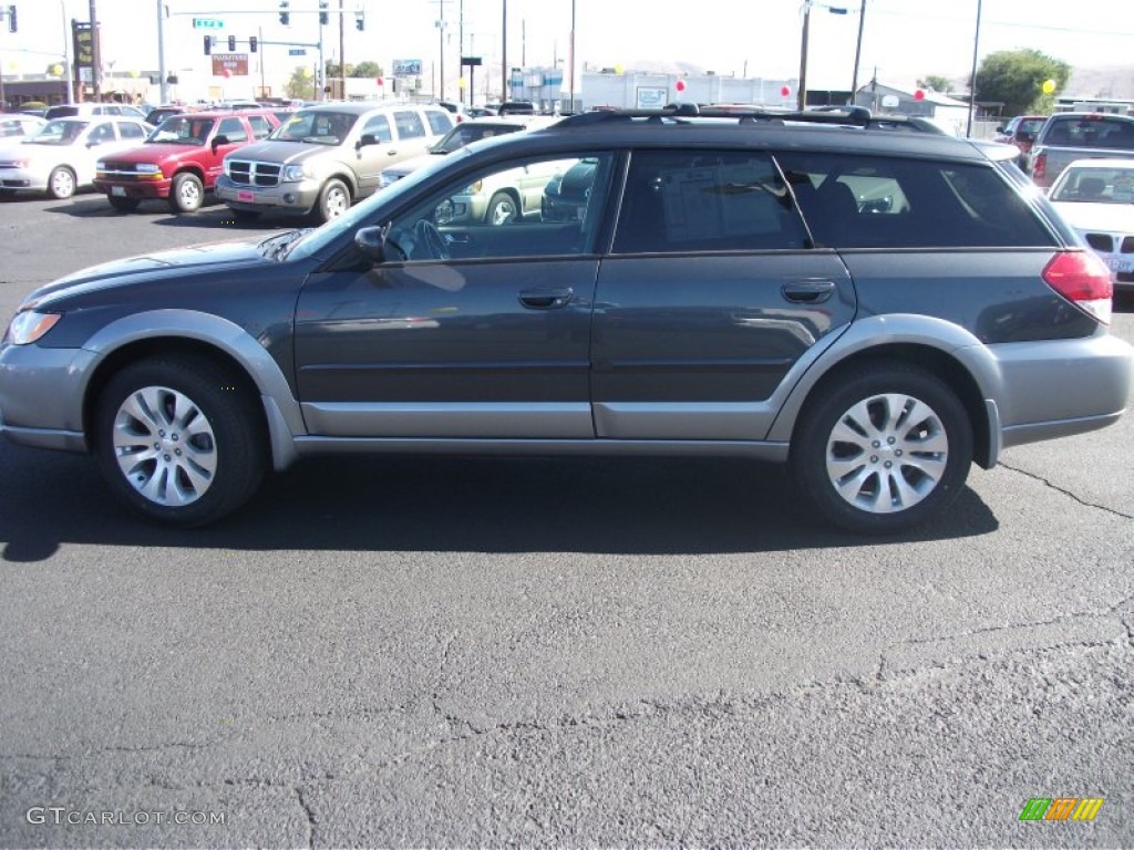
[[[765,154],[635,153],[616,253],[802,248],[806,232]]]

